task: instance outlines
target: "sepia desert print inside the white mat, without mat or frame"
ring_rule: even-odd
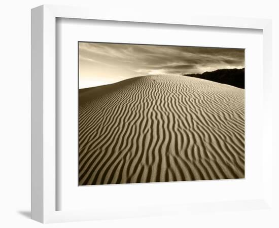
[[[79,42],[79,185],[245,178],[245,50]]]

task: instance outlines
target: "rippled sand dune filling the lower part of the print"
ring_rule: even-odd
[[[244,178],[244,90],[151,75],[80,90],[79,184]]]

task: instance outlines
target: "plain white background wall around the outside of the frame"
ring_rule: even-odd
[[[42,227],[30,219],[30,9],[42,4],[91,5],[103,11],[137,10],[143,14],[197,14],[259,17],[273,20],[273,103],[279,116],[279,6],[277,1],[86,1],[86,0],[10,0],[0,6],[0,226]],[[273,119],[273,138],[278,139],[278,121]],[[277,128],[277,129],[276,129]],[[275,148],[276,147],[276,148]],[[274,152],[279,153],[274,143]],[[278,155],[273,160],[278,161]],[[275,163],[274,163],[275,164]],[[279,174],[278,168],[274,172]],[[279,178],[274,175],[274,180]],[[278,181],[274,181],[278,190]],[[278,191],[279,192],[279,191]],[[275,196],[277,201],[278,197]],[[278,213],[278,211],[277,211]],[[253,219],[246,219],[253,217]],[[273,218],[273,219],[272,219]],[[275,213],[268,211],[220,212],[179,217],[150,217],[81,223],[48,224],[48,227],[278,227]]]

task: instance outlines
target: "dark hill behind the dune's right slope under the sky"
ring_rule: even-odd
[[[245,68],[242,69],[218,69],[211,72],[183,74],[184,76],[210,80],[235,86],[241,89],[245,88]]]

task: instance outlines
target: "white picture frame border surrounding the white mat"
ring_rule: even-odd
[[[234,210],[253,207],[272,210],[271,148],[271,20],[230,17],[176,15],[165,17],[125,12],[106,15],[97,9],[44,5],[31,11],[31,218],[43,223],[82,221],[106,218],[162,214],[160,206],[138,210],[56,210],[56,18],[95,19],[123,22],[146,22],[193,26],[261,29],[263,31],[263,174],[261,199],[246,202],[223,202],[219,207]],[[216,206],[216,205],[215,205]],[[217,205],[218,206],[218,205]],[[196,210],[195,205],[173,205],[163,214]],[[210,207],[209,207],[210,208]],[[210,209],[208,209],[210,210]]]

